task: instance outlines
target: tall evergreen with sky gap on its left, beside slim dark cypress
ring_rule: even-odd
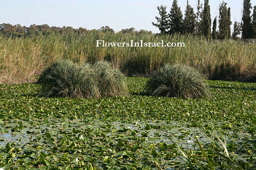
[[[227,3],[224,1],[219,6],[219,33],[218,39],[228,39],[230,20],[228,16]]]

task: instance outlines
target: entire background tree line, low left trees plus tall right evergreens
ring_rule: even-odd
[[[173,0],[172,8],[168,13],[166,6],[157,6],[160,17],[155,17],[157,23],[153,23],[160,30],[160,34],[192,34],[195,36],[204,36],[207,39],[237,39],[238,35],[242,34],[243,39],[256,38],[256,6],[252,7],[250,0],[243,0],[242,21],[235,21],[233,24],[233,33],[231,34],[232,22],[230,21],[230,7],[224,1],[219,5],[219,15],[211,20],[209,0],[204,0],[204,5],[198,0],[196,11],[189,5],[185,9],[183,18],[182,11],[177,5],[177,0]],[[251,14],[251,9],[253,12]],[[217,30],[218,23],[218,30]],[[106,32],[115,34],[109,26],[102,26],[100,29],[87,30],[86,28],[73,28],[71,26],[48,26],[31,25],[29,27],[20,26],[19,24],[12,26],[8,23],[0,24],[0,35],[6,37],[35,37],[37,35],[59,35],[59,34],[84,34],[90,31],[98,34]],[[122,29],[116,34],[152,34],[151,31],[140,30],[136,31],[135,28]]]

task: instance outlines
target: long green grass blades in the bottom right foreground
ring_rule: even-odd
[[[177,142],[174,142],[167,136],[177,146],[188,167],[198,170],[244,170],[241,165],[239,165],[239,162],[236,162],[235,153],[232,153],[231,156],[228,152],[225,138],[223,142],[218,136],[209,137],[206,135],[211,143],[203,144],[199,141],[199,136],[196,136],[195,133],[193,134],[199,147],[198,150],[200,150],[201,154],[199,154],[199,152],[194,153],[192,150],[189,152],[184,150],[179,146],[179,144],[177,144]]]

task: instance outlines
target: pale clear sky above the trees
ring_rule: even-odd
[[[49,26],[72,26],[73,28],[99,29],[109,26],[114,31],[134,27],[153,33],[159,32],[152,26],[159,16],[157,6],[167,6],[169,12],[173,0],[0,0],[0,23],[32,24]],[[201,0],[203,3],[204,0]],[[231,8],[231,21],[241,21],[243,0],[224,0]],[[256,0],[251,0],[252,6]],[[209,0],[212,21],[218,16],[222,0]],[[196,12],[197,0],[189,0]],[[186,0],[178,0],[183,14]]]

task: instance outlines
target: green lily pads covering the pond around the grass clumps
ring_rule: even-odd
[[[212,98],[40,97],[40,85],[0,85],[4,170],[251,169],[256,167],[256,84],[209,81]]]

